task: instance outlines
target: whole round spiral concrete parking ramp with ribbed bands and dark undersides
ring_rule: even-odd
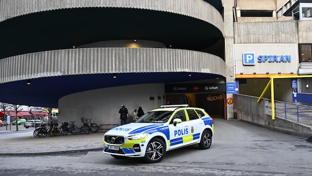
[[[60,121],[80,124],[85,116],[99,125],[119,124],[120,104],[129,112],[159,107],[165,103],[165,84],[224,84],[220,4],[0,0],[0,28],[5,29],[0,34],[0,102],[56,107]],[[144,46],[113,42],[133,39]],[[31,84],[26,86],[26,80]]]

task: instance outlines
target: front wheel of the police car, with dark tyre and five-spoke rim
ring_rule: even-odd
[[[160,162],[166,155],[166,145],[158,138],[153,138],[145,152],[145,161],[148,163]]]

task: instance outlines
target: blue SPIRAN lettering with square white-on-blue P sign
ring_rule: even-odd
[[[254,52],[243,53],[243,65],[256,65],[257,62],[291,62],[291,55],[258,55]]]

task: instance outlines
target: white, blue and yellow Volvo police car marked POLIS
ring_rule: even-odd
[[[199,144],[208,149],[213,135],[213,119],[204,109],[184,105],[163,105],[134,123],[115,127],[104,134],[103,153],[115,158],[144,157],[160,162],[166,152]]]

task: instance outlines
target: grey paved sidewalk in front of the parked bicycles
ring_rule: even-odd
[[[36,138],[34,130],[30,128],[16,132],[15,128],[11,128],[11,131],[1,129],[0,155],[58,154],[103,149],[104,132]]]

